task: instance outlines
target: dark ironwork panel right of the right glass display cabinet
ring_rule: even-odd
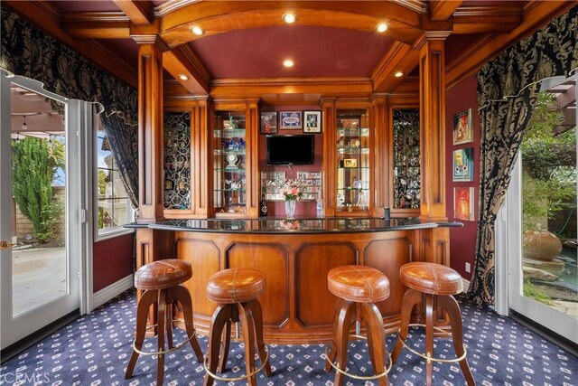
[[[419,110],[394,110],[394,208],[420,207]]]

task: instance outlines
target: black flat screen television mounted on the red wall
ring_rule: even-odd
[[[315,163],[315,137],[267,136],[267,165],[312,165]]]

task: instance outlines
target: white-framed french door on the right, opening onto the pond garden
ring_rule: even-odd
[[[545,87],[548,83],[555,86]],[[566,153],[568,151],[572,153],[572,140],[577,144],[573,150],[573,162],[575,163],[575,150],[578,149],[575,128],[577,114],[575,109],[575,78],[570,81],[545,80],[542,89],[557,95],[555,98],[557,98],[558,108],[562,108],[561,104],[568,103],[564,108],[568,108],[569,111],[564,111],[564,121],[555,127],[555,137],[564,133],[567,138],[569,137],[570,146],[564,147]],[[525,138],[526,140],[527,138]],[[555,147],[560,157],[563,156],[562,148]],[[574,344],[578,344],[578,306],[576,306],[578,304],[576,303],[576,297],[578,297],[578,272],[576,268],[578,251],[575,244],[578,165],[564,165],[561,168],[560,163],[556,162],[540,163],[540,160],[536,159],[537,154],[539,153],[528,153],[527,161],[524,160],[522,154],[518,155],[517,163],[512,171],[506,202],[500,209],[496,221],[496,307],[502,315],[507,315],[508,310],[516,311],[555,332],[555,334],[564,336]],[[541,198],[539,187],[549,187],[550,185],[540,184],[540,181],[536,183],[536,180],[544,178],[544,173],[540,177],[530,172],[531,167],[536,167],[536,165],[550,165],[549,167],[552,167],[548,173],[558,181],[562,180],[564,184],[559,186],[566,186],[569,189],[570,194],[564,200],[565,202],[574,202],[574,205],[570,205],[573,208],[564,211],[558,206],[552,210],[548,203],[553,201],[553,197],[555,197],[552,192],[546,193],[545,198]],[[541,180],[541,182],[544,181]],[[526,196],[526,200],[524,199],[525,189],[531,193]],[[542,189],[544,191],[544,188]],[[548,212],[540,214],[539,208],[536,210],[536,207],[540,206],[547,207]],[[526,219],[526,224],[524,224],[523,219]],[[545,252],[541,252],[540,255],[536,254],[534,249],[530,249],[536,245],[537,241],[530,241],[531,239],[525,237],[525,234],[528,233],[525,233],[524,228],[528,228],[528,223],[530,227],[534,227],[538,222],[540,223],[538,229],[552,231],[551,233],[556,232],[557,237],[563,241],[563,249],[556,255],[555,259],[540,258],[540,256],[544,257]],[[545,241],[540,241],[540,245],[544,245],[543,242],[545,243]],[[531,253],[528,253],[530,250]]]

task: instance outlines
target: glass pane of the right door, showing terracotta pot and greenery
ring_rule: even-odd
[[[522,143],[523,293],[578,319],[575,80],[542,91]]]

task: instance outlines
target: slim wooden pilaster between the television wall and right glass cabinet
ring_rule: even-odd
[[[322,161],[322,194],[323,194],[323,212],[325,217],[335,216],[337,206],[337,161],[335,157],[335,144],[337,137],[335,133],[335,98],[323,98],[323,161]]]

